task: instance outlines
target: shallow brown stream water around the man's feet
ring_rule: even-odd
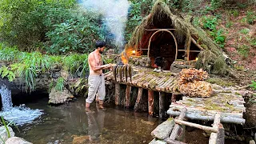
[[[84,138],[85,143],[148,143],[150,132],[158,126],[157,118],[146,113],[134,113],[120,107],[106,106],[94,114],[86,114],[84,98],[62,106],[47,105],[47,98],[26,103],[31,109],[43,110],[41,118],[33,123],[14,128],[18,137],[33,143],[72,143],[74,138]]]

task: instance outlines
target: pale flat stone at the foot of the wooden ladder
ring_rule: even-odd
[[[174,120],[168,119],[166,122],[162,122],[162,124],[160,124],[158,127],[156,127],[151,132],[151,135],[154,138],[166,139],[169,137],[171,130],[173,130],[173,128],[174,128],[174,125],[175,125]]]

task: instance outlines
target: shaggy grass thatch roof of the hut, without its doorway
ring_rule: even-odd
[[[204,30],[187,22],[185,18],[171,10],[161,0],[154,3],[150,14],[143,18],[140,25],[135,28],[126,50],[147,46],[149,38],[147,40],[142,38],[145,35],[153,34],[152,31],[149,31],[150,29],[175,29],[175,38],[178,43],[185,43],[185,47],[188,39],[194,38],[202,49],[201,53],[198,54],[197,68],[203,68],[213,74],[226,74],[228,66],[223,57],[222,49],[207,36]]]

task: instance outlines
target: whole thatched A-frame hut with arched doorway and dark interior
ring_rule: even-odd
[[[196,67],[212,74],[226,74],[227,65],[221,48],[204,30],[193,26],[165,2],[158,0],[149,15],[134,30],[126,53],[137,50],[151,62],[156,57],[168,60],[196,60]]]

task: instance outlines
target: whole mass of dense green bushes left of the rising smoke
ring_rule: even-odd
[[[0,38],[20,50],[87,52],[103,39],[98,17],[70,1],[1,1]]]

